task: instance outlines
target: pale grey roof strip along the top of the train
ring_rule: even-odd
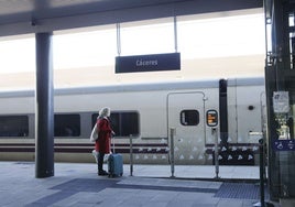
[[[226,78],[225,78],[226,79]],[[161,83],[142,83],[142,84],[117,84],[106,86],[86,86],[72,88],[56,88],[55,96],[77,95],[77,94],[97,94],[97,92],[132,92],[132,91],[155,91],[155,90],[174,90],[174,89],[195,89],[195,88],[218,88],[220,79],[201,79],[201,80],[177,80]],[[264,85],[263,77],[243,77],[229,78],[228,86],[258,86]],[[2,97],[33,97],[34,90],[6,90],[0,91]]]

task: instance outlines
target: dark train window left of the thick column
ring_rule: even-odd
[[[28,116],[0,116],[0,137],[28,137]]]

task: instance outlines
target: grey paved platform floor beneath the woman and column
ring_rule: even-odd
[[[250,207],[260,201],[258,166],[219,171],[221,179],[215,179],[215,166],[176,165],[172,178],[170,165],[134,165],[131,176],[124,165],[122,177],[109,178],[97,175],[95,163],[55,163],[54,176],[35,178],[33,162],[0,162],[0,206]]]

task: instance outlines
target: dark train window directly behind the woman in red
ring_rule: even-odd
[[[95,126],[98,113],[92,115],[92,126]],[[116,137],[139,135],[139,113],[135,111],[111,112],[111,127]]]

